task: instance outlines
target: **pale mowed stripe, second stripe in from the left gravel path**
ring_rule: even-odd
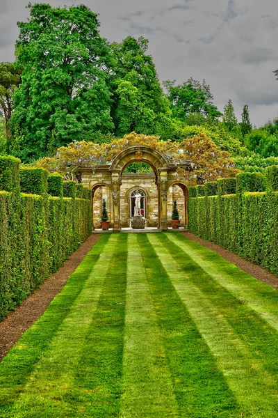
[[[8,411],[11,417],[57,417],[65,416],[67,411],[67,393],[72,389],[74,373],[78,366],[83,341],[97,309],[97,302],[104,283],[104,277],[111,264],[111,250],[117,245],[117,238],[109,240],[106,245],[100,246],[101,254],[94,263],[92,270],[83,281],[83,287],[71,305],[66,305],[67,316],[60,324],[56,335],[44,351],[44,355],[35,365],[33,372],[28,376],[22,395],[17,398],[13,407]],[[92,255],[97,251],[93,249],[82,261],[84,265],[92,265]],[[84,274],[84,272],[83,272]],[[63,288],[58,295],[60,309],[63,309],[63,297],[72,293],[76,286],[75,280]],[[49,307],[51,310],[51,307]],[[19,341],[17,350],[22,349]],[[13,373],[13,372],[12,372]]]

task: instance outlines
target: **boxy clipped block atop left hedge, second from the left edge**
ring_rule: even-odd
[[[22,193],[42,195],[47,192],[47,178],[49,176],[47,170],[21,167],[19,176]]]

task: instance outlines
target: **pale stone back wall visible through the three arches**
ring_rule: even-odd
[[[131,212],[130,194],[134,189],[142,189],[146,194],[146,226],[158,226],[158,195],[154,173],[123,173],[122,185],[120,187],[121,227],[129,227]],[[109,191],[108,187],[99,187],[99,189],[97,189],[97,191],[95,192],[95,197],[93,201],[94,226],[96,229],[100,228],[101,226],[100,222],[102,199],[106,200],[108,216],[111,221],[111,227],[113,227],[112,194]],[[177,207],[181,219],[181,226],[183,226],[185,220],[184,196],[179,186],[170,187],[170,189],[168,190],[168,226],[171,226],[170,220],[172,216],[172,206],[174,199],[177,200]]]

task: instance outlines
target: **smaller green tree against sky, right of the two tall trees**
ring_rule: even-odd
[[[186,121],[187,118],[196,115],[195,118],[203,116],[209,118],[211,122],[215,122],[222,116],[213,104],[213,95],[205,80],[202,84],[193,78],[178,86],[175,86],[174,83],[170,80],[163,83],[174,118]]]

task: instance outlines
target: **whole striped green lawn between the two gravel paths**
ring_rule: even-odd
[[[0,417],[277,417],[278,292],[177,233],[106,234],[0,363]]]

